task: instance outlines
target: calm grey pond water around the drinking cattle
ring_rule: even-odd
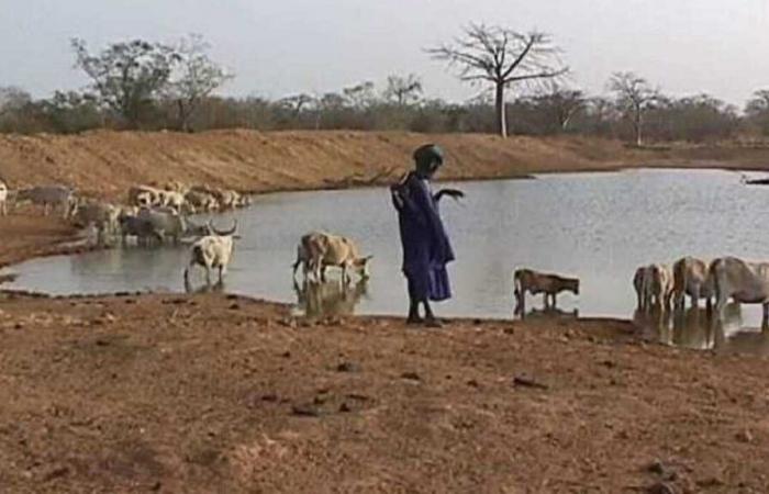
[[[735,172],[642,169],[450,187],[467,197],[444,199],[442,206],[458,258],[449,267],[455,297],[437,307],[445,316],[512,317],[516,267],[579,277],[580,295],[559,296],[566,315],[578,310],[580,316],[629,318],[635,308],[631,279],[639,265],[684,255],[769,258],[769,189],[745,186]],[[311,312],[403,314],[400,242],[387,189],[267,194],[232,216],[243,239],[225,279],[227,292],[297,303]],[[224,227],[230,220],[216,222]],[[312,229],[347,235],[372,254],[370,281],[347,292],[334,284],[321,292],[298,291],[290,266],[297,240]],[[7,287],[53,294],[182,291],[187,260],[186,247],[170,246],[51,257],[14,267],[20,277]],[[202,282],[201,274],[193,280]],[[530,300],[527,306],[539,304]],[[757,306],[732,312],[727,335],[760,325]],[[665,339],[673,322],[660,324],[656,330]],[[718,346],[714,339],[717,335],[678,343]]]

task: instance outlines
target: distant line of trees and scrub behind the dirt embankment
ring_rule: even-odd
[[[78,67],[92,85],[82,91],[57,91],[46,99],[33,99],[21,88],[0,87],[0,132],[235,127],[498,131],[493,98],[464,103],[432,99],[414,75],[389,77],[381,88],[363,82],[320,96],[225,98],[213,92],[234,76],[209,58],[208,45],[200,37],[172,46],[144,41],[115,43],[96,55],[88,53],[83,42],[74,40],[73,48]],[[634,112],[628,81],[648,85],[632,74],[618,74],[608,85],[606,96],[590,97],[559,81],[548,81],[506,103],[509,133],[637,137],[640,142],[636,134],[643,123],[644,138],[657,142],[769,135],[769,90],[757,91],[742,112],[707,94],[672,98],[655,90],[653,98],[643,102],[643,112],[640,106]]]

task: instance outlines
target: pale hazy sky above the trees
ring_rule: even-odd
[[[768,0],[0,0],[0,86],[37,97],[86,83],[73,68],[73,36],[100,47],[201,33],[237,75],[229,94],[381,86],[389,74],[415,72],[428,94],[464,100],[478,90],[423,48],[469,21],[550,33],[571,82],[592,93],[616,70],[739,106],[769,88]]]

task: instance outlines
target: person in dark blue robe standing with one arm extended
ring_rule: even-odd
[[[446,265],[455,260],[455,256],[438,203],[443,195],[458,199],[465,194],[456,189],[443,189],[433,194],[430,182],[444,161],[441,147],[425,144],[414,151],[413,158],[414,170],[390,188],[398,211],[402,269],[409,291],[406,323],[441,327],[430,302],[452,297]],[[420,315],[420,305],[424,307],[424,317]]]

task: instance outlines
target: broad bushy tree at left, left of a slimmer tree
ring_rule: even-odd
[[[179,56],[170,46],[143,40],[113,43],[97,55],[86,42],[71,40],[76,67],[92,80],[99,101],[138,126],[145,111],[166,88]]]

